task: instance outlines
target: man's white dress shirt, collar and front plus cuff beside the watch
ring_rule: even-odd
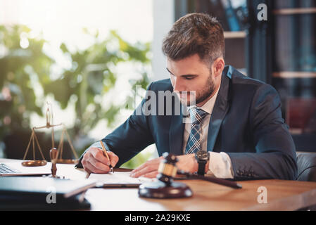
[[[201,150],[208,150],[208,126],[210,124],[210,116],[212,115],[213,108],[215,105],[216,97],[218,94],[218,91],[220,90],[220,87],[217,89],[215,95],[210,98],[203,106],[200,108],[208,115],[204,117],[203,121],[201,122],[201,134],[200,134],[200,143],[201,143]],[[192,107],[192,106],[191,106]],[[193,106],[195,107],[195,106]],[[189,108],[188,108],[189,110]],[[187,146],[187,141],[189,139],[190,133],[191,133],[191,120],[189,117],[189,113],[187,116],[186,124],[184,126],[184,139],[183,139],[183,154],[185,154],[185,148]],[[234,172],[232,171],[232,161],[229,158],[229,155],[227,153],[215,153],[210,151],[210,163],[207,175],[215,176],[217,178],[234,178]]]

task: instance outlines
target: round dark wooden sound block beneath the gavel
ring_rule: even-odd
[[[184,183],[165,184],[162,181],[156,181],[141,184],[138,194],[144,198],[188,198],[192,196],[192,191]]]

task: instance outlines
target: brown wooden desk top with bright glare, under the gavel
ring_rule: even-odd
[[[0,162],[11,160],[1,160]],[[57,165],[59,176],[84,179],[85,172],[73,165]],[[298,210],[316,205],[316,182],[258,180],[239,181],[241,189],[232,189],[207,181],[182,181],[190,186],[191,198],[139,198],[137,188],[91,188],[85,197],[91,210]],[[267,188],[267,204],[258,203],[258,188]]]

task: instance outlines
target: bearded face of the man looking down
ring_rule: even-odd
[[[196,105],[203,105],[215,93],[212,71],[198,54],[177,61],[167,58],[167,70],[182,104],[193,105],[195,98]]]

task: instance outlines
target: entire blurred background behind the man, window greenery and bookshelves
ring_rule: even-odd
[[[0,158],[23,158],[47,102],[79,155],[113,131],[150,82],[168,78],[163,37],[193,12],[220,20],[226,64],[272,84],[297,150],[316,151],[315,0],[0,0]],[[37,131],[45,158],[50,132]],[[155,157],[149,146],[124,167]]]

